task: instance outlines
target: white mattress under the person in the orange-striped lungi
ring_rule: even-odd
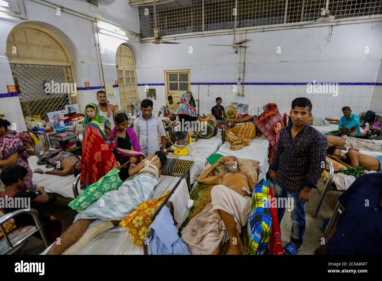
[[[259,180],[264,179],[269,169],[268,148],[269,141],[265,136],[255,137],[249,143],[249,146],[244,146],[240,150],[231,150],[231,144],[226,141],[217,153],[223,156],[235,156],[236,158],[244,158],[259,161]]]

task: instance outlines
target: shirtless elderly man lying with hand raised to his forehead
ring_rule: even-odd
[[[226,174],[208,176],[222,164]],[[239,234],[251,211],[251,194],[255,185],[249,175],[238,171],[237,166],[236,157],[222,157],[197,178],[201,184],[215,186],[211,189],[212,202],[182,231],[182,238],[193,255],[218,255],[222,242],[228,239],[228,255],[242,252]]]

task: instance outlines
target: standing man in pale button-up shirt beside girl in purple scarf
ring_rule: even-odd
[[[162,119],[152,114],[152,106],[153,103],[150,99],[144,99],[141,102],[142,115],[134,120],[134,131],[145,156],[154,154],[159,150],[168,155],[163,122]],[[160,148],[158,135],[160,135],[162,141],[162,149]]]

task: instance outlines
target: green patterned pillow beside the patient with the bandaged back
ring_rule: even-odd
[[[77,212],[85,210],[105,193],[118,189],[123,181],[120,179],[119,170],[112,169],[94,184],[89,185],[83,193],[71,201],[68,206]]]

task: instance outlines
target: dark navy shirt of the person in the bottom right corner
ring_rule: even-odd
[[[338,200],[345,207],[326,245],[326,255],[382,253],[382,174],[366,174],[353,182]]]

